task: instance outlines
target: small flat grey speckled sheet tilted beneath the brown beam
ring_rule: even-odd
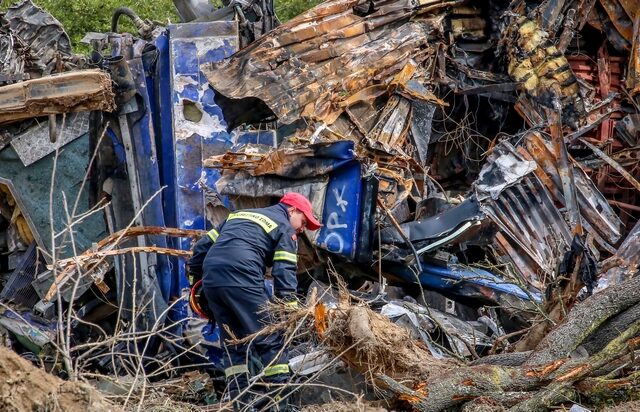
[[[57,148],[86,135],[89,131],[89,113],[78,112],[57,116],[55,127],[59,130],[55,143],[51,143],[48,120],[34,125],[11,139],[11,146],[25,166],[37,162],[55,152]]]

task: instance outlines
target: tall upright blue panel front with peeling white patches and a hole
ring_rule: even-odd
[[[185,23],[170,25],[168,32],[175,223],[185,229],[206,229],[205,199],[199,182],[215,187],[220,174],[204,169],[202,161],[226,152],[231,146],[231,136],[200,65],[221,61],[237,50],[237,24]],[[181,249],[190,246],[188,239],[178,245]],[[176,296],[188,287],[183,265],[178,265],[178,272],[178,290],[173,291]]]

